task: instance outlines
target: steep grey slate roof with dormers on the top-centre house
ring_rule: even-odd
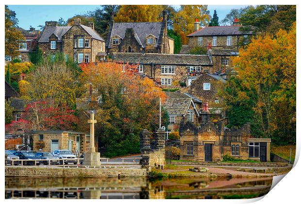
[[[135,23],[113,23],[113,28],[109,41],[109,48],[111,48],[112,40],[114,35],[118,35],[121,39],[124,38],[126,29],[133,28],[135,34],[135,39],[143,47],[146,47],[146,37],[150,34],[154,35],[156,39],[160,36],[160,31],[162,27],[162,22],[135,22]],[[156,40],[156,45],[158,45],[158,40]]]

